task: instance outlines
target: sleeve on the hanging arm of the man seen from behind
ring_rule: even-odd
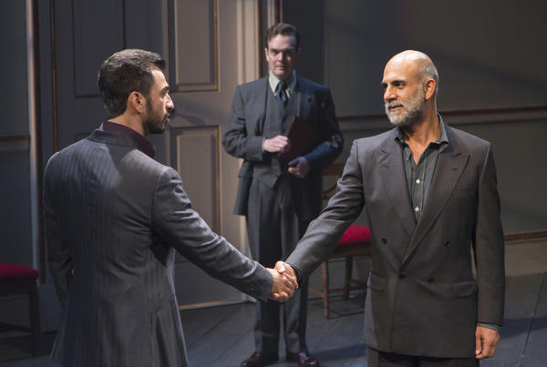
[[[47,263],[49,271],[55,284],[57,296],[61,305],[67,300],[67,291],[70,280],[72,279],[73,263],[67,249],[67,241],[63,236],[61,227],[58,223],[57,213],[54,209],[56,192],[52,187],[55,173],[51,173],[50,159],[46,167],[44,178],[44,227],[46,235]]]

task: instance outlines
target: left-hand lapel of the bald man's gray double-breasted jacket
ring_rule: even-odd
[[[407,231],[408,236],[411,236],[416,219],[410,205],[405,168],[403,167],[403,154],[395,141],[395,129],[392,132],[387,137],[387,144],[377,151],[376,158],[384,188],[391,199],[397,218]]]

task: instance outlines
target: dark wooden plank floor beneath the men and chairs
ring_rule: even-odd
[[[547,367],[547,261],[545,244],[527,254],[526,247],[507,247],[509,259],[524,261],[507,266],[505,325],[494,358],[480,363],[490,367]],[[525,259],[523,257],[529,257]],[[307,343],[323,367],[366,366],[363,342],[364,297],[331,302],[331,320],[323,317],[319,300],[308,302]],[[191,366],[239,366],[253,352],[254,305],[243,303],[181,311]],[[53,334],[40,339],[40,357],[29,358],[26,338],[0,339],[0,366],[58,366],[49,361]],[[458,342],[458,341],[454,341]],[[282,344],[283,345],[283,344]],[[274,366],[295,366],[284,362]]]

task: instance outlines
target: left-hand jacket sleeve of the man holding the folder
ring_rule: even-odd
[[[232,116],[228,122],[228,129],[222,138],[222,146],[233,157],[263,161],[263,137],[247,131],[247,118],[242,87],[238,86],[233,96]]]

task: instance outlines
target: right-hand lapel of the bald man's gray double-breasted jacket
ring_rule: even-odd
[[[440,212],[452,195],[452,191],[456,188],[459,177],[463,173],[463,169],[467,165],[470,158],[469,154],[462,154],[459,151],[458,141],[452,134],[450,127],[446,126],[447,135],[449,137],[449,146],[440,152],[431,179],[428,199],[425,203],[424,210],[416,229],[412,234],[408,249],[405,253],[402,267],[404,268],[410,260],[414,251],[418,248],[421,240],[423,240],[428,230],[439,217]]]

